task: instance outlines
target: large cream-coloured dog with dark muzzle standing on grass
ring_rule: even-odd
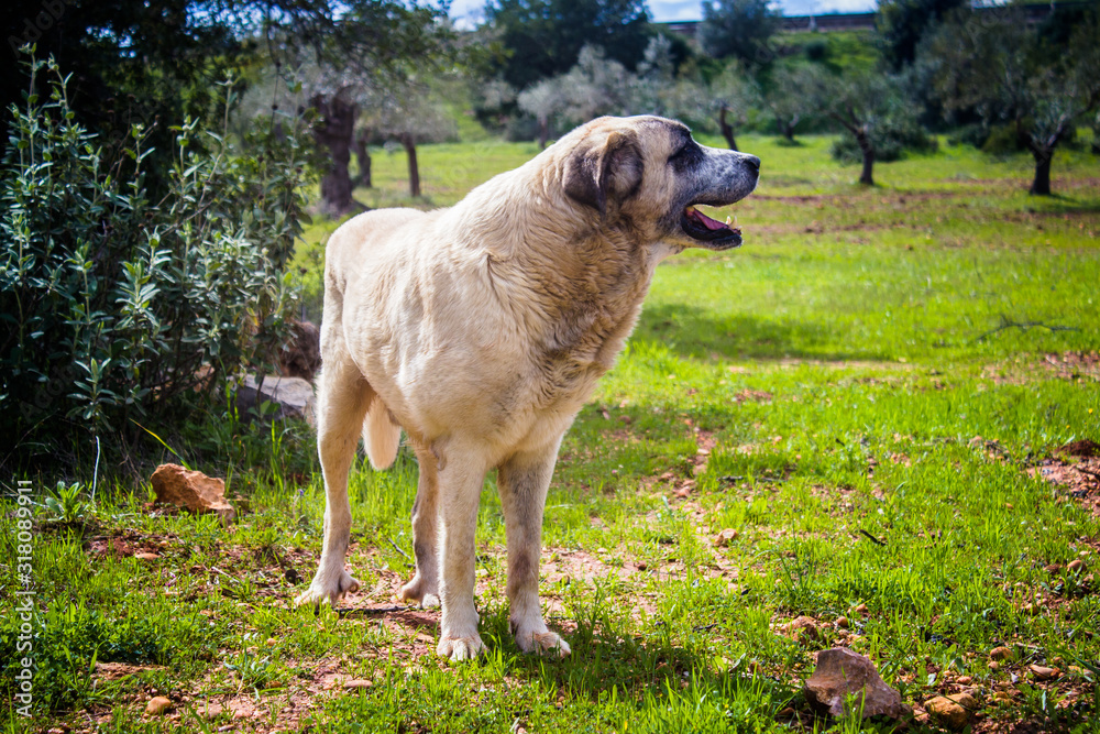
[[[442,606],[438,654],[485,649],[474,532],[496,468],[512,632],[525,653],[568,655],[538,590],[562,436],[634,329],[657,264],[685,248],[740,245],[728,219],[696,207],[748,196],[759,168],[673,120],[600,118],[449,209],[378,209],[333,232],[317,396],[324,538],[296,603],[331,604],[359,588],[344,570],[348,472],[360,435],[383,469],[404,429],[420,474],[416,571],[399,596]]]

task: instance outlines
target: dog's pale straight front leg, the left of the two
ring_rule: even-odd
[[[438,476],[443,613],[436,651],[453,660],[466,660],[485,649],[474,609],[474,534],[485,469],[455,457],[439,470]]]

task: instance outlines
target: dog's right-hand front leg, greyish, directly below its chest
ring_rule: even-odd
[[[539,556],[547,490],[561,437],[544,450],[513,456],[499,467],[497,485],[508,540],[509,621],[525,653],[569,655],[569,644],[547,628],[539,604]]]

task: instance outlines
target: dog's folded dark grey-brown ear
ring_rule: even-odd
[[[641,185],[641,151],[632,133],[617,130],[584,143],[569,156],[565,194],[604,216],[608,200],[623,201]]]

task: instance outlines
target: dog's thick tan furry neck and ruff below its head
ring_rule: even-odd
[[[553,382],[594,381],[634,330],[658,263],[679,248],[639,241],[617,210],[544,206],[540,197],[564,194],[553,173],[540,175],[521,167],[487,182],[455,207],[453,227],[469,233],[461,247],[484,259],[494,297],[525,324]],[[532,199],[504,195],[516,190]]]

